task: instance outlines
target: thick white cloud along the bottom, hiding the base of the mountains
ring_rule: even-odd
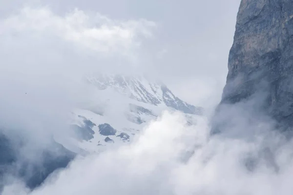
[[[179,113],[164,113],[130,145],[79,157],[32,192],[13,183],[3,195],[291,194],[291,141],[274,133],[253,141],[209,137],[207,122],[187,127]]]

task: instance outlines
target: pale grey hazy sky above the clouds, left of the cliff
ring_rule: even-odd
[[[137,69],[161,78],[184,100],[201,104],[211,91],[211,98],[221,95],[239,3],[240,0],[2,0],[0,16],[5,18],[23,5],[47,5],[60,16],[79,8],[111,20],[153,21],[156,27],[150,30],[152,37],[140,46]],[[199,96],[197,91],[204,89],[207,93]]]

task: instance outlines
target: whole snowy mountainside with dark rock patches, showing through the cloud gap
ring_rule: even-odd
[[[166,85],[144,77],[96,74],[86,80],[96,90],[97,98],[76,109],[71,123],[79,147],[87,152],[130,142],[164,110],[185,113],[189,125],[203,114],[203,108],[188,104]]]

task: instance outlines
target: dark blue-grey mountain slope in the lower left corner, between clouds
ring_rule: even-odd
[[[29,148],[27,144],[33,145],[34,140],[28,143],[24,137],[7,136],[0,129],[0,193],[11,176],[21,178],[31,189],[36,188],[55,170],[65,168],[76,155],[55,140],[42,149]],[[35,157],[29,157],[30,154]]]

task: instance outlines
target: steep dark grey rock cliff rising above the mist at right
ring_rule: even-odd
[[[293,0],[241,0],[221,105],[258,98],[293,126]]]

